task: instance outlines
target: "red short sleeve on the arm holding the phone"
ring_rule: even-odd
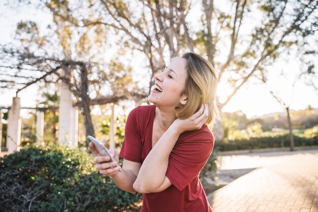
[[[126,120],[125,137],[119,156],[123,159],[141,163],[141,136],[137,125],[137,110],[132,110]]]

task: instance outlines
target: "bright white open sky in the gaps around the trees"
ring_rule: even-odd
[[[0,28],[2,29],[0,44],[13,42],[15,27],[20,20],[34,20],[40,25],[40,28],[46,27],[51,20],[51,16],[48,13],[21,7],[16,9],[8,8],[4,6],[4,2],[5,1],[0,1]],[[142,64],[138,59],[134,60],[133,63],[133,66],[138,66],[139,63]],[[143,64],[141,66],[143,66]],[[292,102],[290,106],[291,109],[305,109],[308,105],[313,108],[318,108],[318,95],[314,92],[312,87],[298,82],[294,86],[294,92],[292,92],[292,84],[296,77],[293,73],[297,73],[299,69],[300,64],[297,63],[296,58],[292,57],[288,62],[274,64],[272,67],[269,67],[269,73],[271,74],[268,77],[269,80],[266,85],[245,83],[232,100],[223,108],[222,112],[241,110],[247,117],[253,117],[284,111],[278,102],[270,95],[269,90],[272,90],[287,104]],[[281,70],[287,71],[284,77],[279,75]],[[12,97],[15,97],[15,92],[15,90],[0,89],[0,107],[10,106]],[[228,84],[220,83],[217,89],[220,102],[224,102],[230,92],[231,89]],[[19,97],[21,98],[22,107],[35,107],[36,100],[40,99],[38,86],[34,84],[22,90],[22,92],[19,93]]]

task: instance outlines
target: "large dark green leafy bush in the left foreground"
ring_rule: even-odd
[[[140,199],[79,149],[28,146],[0,158],[0,211],[138,211]]]

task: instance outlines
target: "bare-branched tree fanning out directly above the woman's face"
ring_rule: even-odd
[[[165,67],[166,46],[170,57],[173,57],[185,44],[181,27],[190,7],[186,1],[137,1],[130,4],[127,1],[101,0],[89,3],[88,16],[77,14],[76,11],[82,7],[71,2],[48,1],[44,4],[54,16],[76,27],[112,29],[119,37],[117,45],[142,52],[150,68],[149,93],[155,73]]]

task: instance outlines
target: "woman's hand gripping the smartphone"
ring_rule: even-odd
[[[89,148],[96,155],[94,159],[94,164],[96,165],[96,168],[100,171],[101,174],[104,174],[106,176],[115,176],[118,173],[118,171],[121,171],[121,167],[118,165],[119,157],[115,149],[109,150],[110,155],[115,160],[114,162],[109,162],[110,157],[102,156],[96,149],[93,142],[89,143]]]

